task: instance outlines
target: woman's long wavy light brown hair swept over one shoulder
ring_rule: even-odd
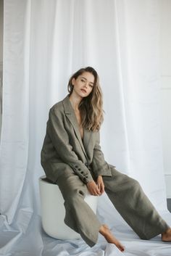
[[[101,123],[103,123],[103,99],[101,87],[99,84],[99,75],[96,73],[96,70],[93,67],[84,67],[75,72],[67,85],[69,91],[69,96],[72,94],[74,86],[72,85],[72,79],[77,79],[79,75],[82,75],[84,72],[91,73],[94,77],[94,85],[91,94],[87,97],[84,97],[78,106],[80,110],[81,124],[84,128],[89,131],[99,131]]]

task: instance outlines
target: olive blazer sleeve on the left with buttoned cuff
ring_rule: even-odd
[[[61,160],[70,165],[83,183],[88,183],[88,181],[92,181],[93,178],[86,165],[78,159],[77,154],[72,150],[68,133],[64,128],[63,115],[64,114],[60,111],[56,114],[54,109],[49,111],[47,131],[51,138],[51,142]]]

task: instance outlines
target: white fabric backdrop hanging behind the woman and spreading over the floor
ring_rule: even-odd
[[[70,75],[87,65],[98,71],[104,93],[106,160],[138,179],[171,224],[160,131],[158,1],[5,0],[0,255],[121,255],[101,236],[89,248],[41,229],[38,178],[49,108],[67,95]],[[170,255],[159,236],[138,239],[106,195],[98,216],[125,244],[122,255]]]

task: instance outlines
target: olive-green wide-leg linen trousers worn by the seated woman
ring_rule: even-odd
[[[166,231],[169,226],[149,201],[135,179],[111,168],[112,176],[103,176],[105,192],[122,218],[141,239],[151,239]],[[86,184],[69,168],[60,174],[57,185],[62,191],[66,215],[64,223],[78,232],[93,247],[102,223],[84,201]]]

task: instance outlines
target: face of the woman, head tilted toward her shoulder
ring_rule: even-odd
[[[84,72],[78,78],[72,79],[72,85],[74,86],[72,92],[75,92],[75,94],[78,94],[82,98],[87,97],[93,90],[94,76],[89,72]]]

